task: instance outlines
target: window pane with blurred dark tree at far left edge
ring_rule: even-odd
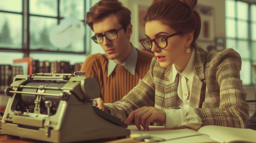
[[[0,47],[21,49],[22,15],[0,12]]]

